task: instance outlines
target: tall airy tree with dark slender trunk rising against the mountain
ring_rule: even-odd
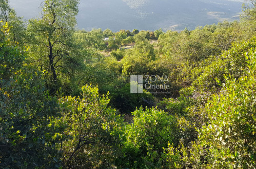
[[[30,44],[33,44],[31,51],[38,67],[50,74],[48,86],[52,83],[54,85],[50,87],[51,92],[56,91],[57,77],[64,70],[71,71],[78,65],[72,44],[77,5],[78,0],[46,0],[43,3],[42,16],[29,20],[27,32]],[[66,74],[71,73],[70,71]]]

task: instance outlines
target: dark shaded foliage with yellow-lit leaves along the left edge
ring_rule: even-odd
[[[0,167],[54,168],[61,165],[55,145],[62,139],[52,125],[60,116],[43,76],[26,61],[27,49],[12,42],[7,24],[0,37]]]

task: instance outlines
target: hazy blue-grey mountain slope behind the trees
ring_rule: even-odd
[[[41,2],[11,0],[11,5],[28,19],[37,15]],[[225,19],[239,19],[242,3],[242,0],[81,0],[77,23],[86,30],[194,29]]]

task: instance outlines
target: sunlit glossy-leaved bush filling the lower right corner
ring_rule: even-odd
[[[247,76],[241,77],[239,83],[228,80],[223,94],[213,96],[211,104],[206,105],[209,125],[203,126],[199,137],[211,147],[208,161],[216,161],[212,167],[255,166],[254,53],[249,53],[249,60]]]

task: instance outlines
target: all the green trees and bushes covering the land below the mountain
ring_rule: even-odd
[[[254,0],[180,32],[77,30],[78,3],[0,1],[1,168],[256,167]]]

